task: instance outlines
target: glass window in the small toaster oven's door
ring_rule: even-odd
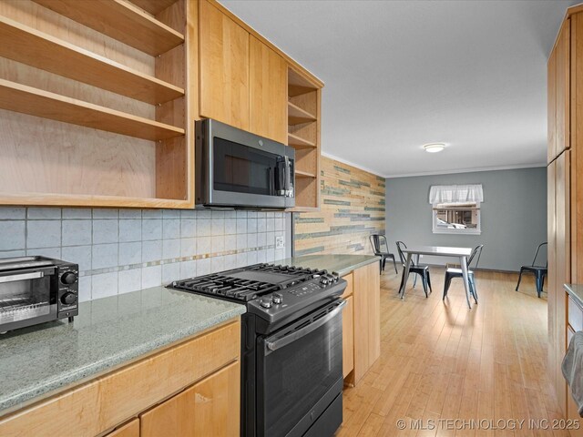
[[[50,314],[51,277],[0,283],[0,323],[34,319]]]

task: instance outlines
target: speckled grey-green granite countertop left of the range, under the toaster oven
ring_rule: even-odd
[[[0,416],[206,330],[245,306],[163,287],[83,302],[57,320],[0,336]]]

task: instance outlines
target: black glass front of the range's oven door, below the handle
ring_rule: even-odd
[[[265,354],[259,381],[265,435],[290,432],[342,378],[342,336],[342,317],[338,314],[299,340]]]

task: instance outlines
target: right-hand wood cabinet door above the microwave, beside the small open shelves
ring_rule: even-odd
[[[281,56],[250,36],[251,132],[287,144],[288,66]]]

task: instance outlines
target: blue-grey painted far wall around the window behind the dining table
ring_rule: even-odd
[[[432,231],[432,185],[482,184],[481,235],[445,235]],[[517,270],[532,261],[537,245],[547,240],[547,168],[480,171],[386,179],[386,234],[394,241],[438,246],[484,244],[480,266]],[[422,262],[444,263],[425,258]],[[451,262],[451,261],[450,261]]]

